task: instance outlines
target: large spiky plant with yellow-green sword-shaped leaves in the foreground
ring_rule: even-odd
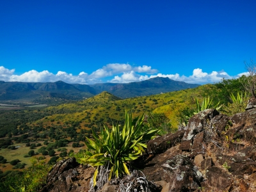
[[[80,161],[97,167],[93,176],[93,186],[97,183],[99,166],[110,165],[109,180],[114,176],[118,178],[120,175],[130,174],[127,163],[138,159],[147,147],[145,141],[150,140],[159,131],[155,129],[141,132],[143,120],[144,115],[132,120],[132,113],[125,111],[122,131],[119,125],[113,125],[112,129],[104,125],[98,135],[93,131],[94,140],[86,138],[88,151]]]

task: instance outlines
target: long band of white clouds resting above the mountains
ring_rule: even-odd
[[[64,81],[66,83],[94,84],[104,83],[102,79],[108,77],[110,83],[130,83],[134,81],[144,81],[153,77],[169,77],[175,81],[184,81],[186,83],[206,84],[218,83],[221,79],[232,79],[246,75],[247,73],[237,74],[237,76],[229,76],[225,71],[212,71],[211,73],[203,72],[201,68],[195,68],[191,76],[180,74],[161,74],[157,73],[156,69],[150,66],[143,65],[142,67],[132,67],[129,64],[110,63],[102,68],[99,68],[88,74],[80,72],[77,76],[68,74],[67,72],[59,71],[57,74],[52,74],[48,70],[38,72],[29,70],[24,74],[15,74],[15,69],[0,67],[1,81],[21,81],[21,82],[55,82]]]

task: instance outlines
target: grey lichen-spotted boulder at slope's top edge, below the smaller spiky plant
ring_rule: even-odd
[[[197,133],[204,131],[205,126],[210,123],[214,116],[220,113],[216,109],[205,109],[200,113],[192,116],[188,122],[188,129],[184,133],[182,140],[191,140]]]

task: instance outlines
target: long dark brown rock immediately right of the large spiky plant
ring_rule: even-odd
[[[148,153],[159,154],[166,151],[168,148],[171,148],[180,143],[184,130],[177,131],[175,133],[169,133],[164,136],[154,138],[153,140],[148,141],[147,151]]]

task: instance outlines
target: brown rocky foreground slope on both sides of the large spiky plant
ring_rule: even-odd
[[[244,113],[226,116],[206,109],[175,134],[148,141],[147,154],[134,166],[151,191],[256,191],[255,142],[256,100],[250,99]],[[41,191],[88,191],[93,172],[65,159],[52,168]],[[111,181],[97,191],[119,187]]]

